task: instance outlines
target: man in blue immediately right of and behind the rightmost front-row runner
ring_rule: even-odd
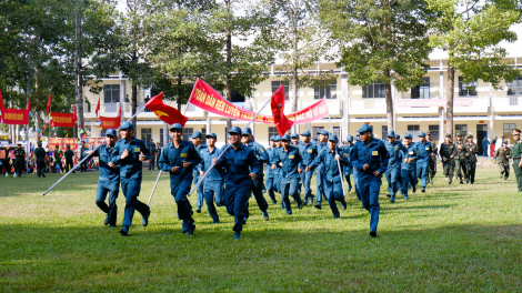
[[[402,143],[395,141],[395,133],[393,131],[388,131],[388,141],[384,142],[388,153],[390,154],[390,160],[388,161],[388,170],[385,172],[388,181],[388,196],[391,198],[391,202],[395,202],[395,194],[399,191],[400,186],[400,173],[401,173],[401,162],[402,153],[405,150]]]

